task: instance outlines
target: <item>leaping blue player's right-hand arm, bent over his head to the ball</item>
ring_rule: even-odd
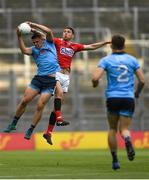
[[[51,41],[51,42],[53,41],[54,35],[50,28],[41,24],[33,23],[33,22],[28,22],[28,24],[31,26],[31,28],[40,29],[41,31],[46,33],[46,39],[48,41]]]

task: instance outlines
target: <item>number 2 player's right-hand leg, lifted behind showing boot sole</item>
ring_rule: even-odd
[[[122,138],[125,141],[125,147],[127,151],[127,156],[130,161],[132,161],[135,157],[135,151],[131,143],[129,126],[131,124],[132,119],[130,117],[120,116],[120,133]]]

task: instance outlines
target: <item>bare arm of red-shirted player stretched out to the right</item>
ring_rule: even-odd
[[[110,44],[110,43],[111,43],[111,41],[102,41],[102,42],[84,45],[84,50],[95,50],[95,49],[98,49],[98,48],[100,48],[106,44]]]

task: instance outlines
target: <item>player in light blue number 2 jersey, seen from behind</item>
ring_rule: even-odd
[[[120,168],[117,157],[117,129],[119,129],[125,141],[128,159],[133,160],[135,156],[128,128],[135,108],[134,97],[139,97],[145,82],[137,59],[124,52],[125,38],[121,35],[114,35],[111,48],[112,54],[99,61],[92,77],[92,84],[93,87],[97,87],[99,80],[106,72],[107,89],[105,95],[109,123],[108,144],[113,158],[112,168],[116,170]],[[138,79],[135,93],[134,74]]]

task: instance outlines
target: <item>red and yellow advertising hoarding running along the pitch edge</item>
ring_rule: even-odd
[[[107,132],[54,132],[53,145],[43,138],[43,133],[35,133],[30,140],[24,139],[24,133],[1,133],[0,151],[3,150],[77,150],[77,149],[107,149]],[[135,148],[149,148],[149,132],[132,132],[132,142]],[[125,148],[120,135],[117,135],[119,148]]]

